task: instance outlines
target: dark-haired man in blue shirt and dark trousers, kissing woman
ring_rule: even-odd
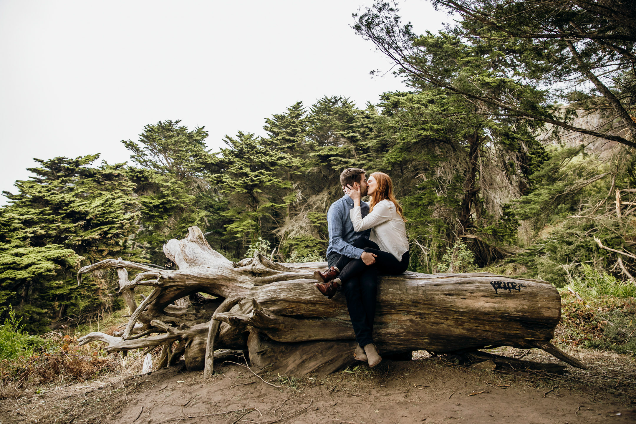
[[[362,196],[366,196],[368,184],[366,182],[365,172],[361,168],[347,168],[340,174],[340,185],[343,187],[352,186],[354,189],[360,189]],[[361,202],[362,216],[365,217],[369,213],[369,205]],[[365,231],[356,231],[354,224],[351,222],[349,211],[354,208],[354,201],[349,195],[331,203],[327,212],[327,225],[329,229],[329,246],[327,247],[327,261],[329,269],[320,272],[315,271],[314,277],[320,283],[315,286],[322,294],[329,299],[336,294],[339,284],[333,282],[338,273],[342,270],[335,268],[335,264],[341,255],[351,257],[353,259],[362,259],[366,265],[375,263],[375,255],[365,252],[363,249],[354,246],[358,238],[369,238],[370,229]],[[343,292],[347,298],[347,309],[351,324],[356,332],[356,341],[358,345],[354,352],[357,360],[369,362],[373,366],[377,365],[382,358],[377,353],[375,345],[371,344],[373,332],[373,318],[375,317],[375,301],[377,297],[377,280],[378,272],[375,266],[369,266],[359,277],[352,278],[343,282]],[[364,346],[373,346],[371,352],[366,352]],[[371,355],[371,356],[369,356]]]

